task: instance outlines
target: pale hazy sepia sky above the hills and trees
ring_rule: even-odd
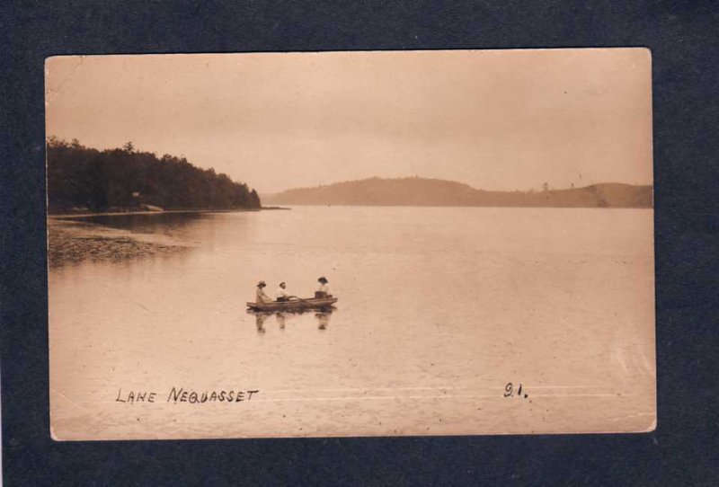
[[[50,58],[47,133],[184,155],[261,193],[372,176],[652,182],[644,49]]]

